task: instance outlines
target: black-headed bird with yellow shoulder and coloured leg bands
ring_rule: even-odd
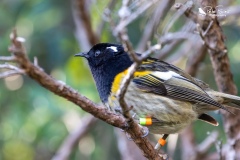
[[[119,111],[116,94],[133,64],[122,45],[100,43],[76,56],[88,60],[102,102]],[[197,119],[217,126],[208,111],[228,111],[224,105],[240,109],[240,97],[213,91],[180,68],[154,58],[147,58],[137,68],[124,98],[140,124],[148,125],[154,134],[164,134],[160,145],[168,134],[178,133]]]

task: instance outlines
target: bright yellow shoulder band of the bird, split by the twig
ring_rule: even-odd
[[[128,69],[126,69],[125,71],[123,71],[115,76],[115,78],[113,80],[113,84],[112,84],[112,89],[111,89],[112,94],[115,95],[117,93],[117,91],[122,83],[122,80],[126,76],[127,73],[128,73]],[[142,76],[148,75],[150,73],[151,73],[150,71],[136,71],[134,73],[134,77],[142,77]]]

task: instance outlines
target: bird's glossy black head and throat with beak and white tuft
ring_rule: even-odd
[[[88,52],[78,53],[75,56],[85,57],[88,60],[100,98],[104,103],[108,101],[115,76],[132,64],[120,44],[99,43]]]

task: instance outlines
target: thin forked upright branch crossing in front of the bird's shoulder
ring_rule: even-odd
[[[155,1],[153,1],[155,2]],[[122,10],[125,8],[126,9],[126,5],[128,4],[128,1],[123,1],[123,5],[122,5]],[[148,5],[148,7],[150,7],[150,5]],[[148,7],[144,6],[143,10],[138,9],[138,11],[135,13],[136,15],[144,12]],[[135,16],[136,16],[135,15]],[[129,16],[129,15],[128,15]],[[129,18],[130,17],[130,18]],[[154,47],[151,47],[148,51],[146,51],[144,54],[142,54],[142,57],[138,57],[135,54],[135,51],[133,50],[132,44],[129,41],[128,35],[126,33],[126,25],[129,24],[131,21],[134,20],[134,18],[132,19],[131,16],[125,16],[122,15],[121,21],[119,23],[119,25],[115,28],[115,30],[113,30],[113,35],[118,36],[118,38],[120,38],[125,51],[128,52],[130,58],[133,60],[133,65],[130,67],[130,69],[128,70],[127,75],[124,77],[123,82],[120,86],[120,89],[117,92],[117,98],[119,101],[119,104],[122,108],[122,113],[123,116],[127,119],[128,122],[128,128],[126,131],[129,132],[134,132],[135,135],[137,136],[132,136],[133,134],[131,134],[131,138],[133,139],[133,141],[139,146],[139,144],[144,144],[145,146],[148,146],[148,151],[146,152],[146,150],[142,150],[144,152],[144,156],[147,157],[149,154],[151,155],[150,159],[162,159],[159,155],[158,152],[153,148],[153,146],[151,145],[151,143],[146,139],[146,138],[141,138],[143,135],[143,131],[141,129],[141,127],[134,122],[133,118],[131,117],[129,111],[130,111],[130,107],[127,105],[127,103],[124,100],[124,95],[127,91],[127,87],[133,77],[133,73],[136,71],[137,67],[141,64],[141,62],[143,61],[143,59],[145,59],[153,50],[156,49],[160,49],[160,45],[155,45]],[[134,17],[134,16],[133,16]],[[125,19],[127,19],[127,21],[125,21]],[[131,21],[130,21],[131,20]],[[122,27],[122,28],[121,28]],[[119,29],[121,28],[121,29]],[[131,106],[132,107],[132,106]],[[142,148],[141,148],[142,149]],[[149,157],[147,157],[149,158]]]

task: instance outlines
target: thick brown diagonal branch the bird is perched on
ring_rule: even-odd
[[[17,63],[20,65],[20,68],[23,69],[29,77],[34,79],[47,90],[68,99],[72,103],[81,107],[84,111],[91,113],[93,116],[105,121],[112,126],[126,130],[126,132],[128,132],[128,134],[133,138],[134,142],[142,150],[146,158],[161,159],[147,138],[141,137],[142,131],[139,129],[139,126],[136,123],[133,123],[135,124],[132,125],[134,126],[133,128],[129,128],[127,125],[129,122],[127,123],[121,115],[117,115],[110,112],[105,107],[96,105],[91,100],[80,95],[76,90],[47,75],[42,68],[31,63],[26,56],[26,51],[23,48],[22,43],[17,40],[16,32],[14,32],[11,40],[12,45],[9,47],[9,51],[14,54]]]

